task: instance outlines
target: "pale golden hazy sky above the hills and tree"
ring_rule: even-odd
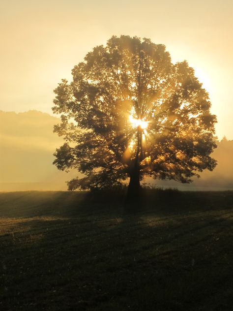
[[[233,139],[233,0],[0,0],[0,109],[52,114],[53,90],[94,46],[128,34],[186,59]]]

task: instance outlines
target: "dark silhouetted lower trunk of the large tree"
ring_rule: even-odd
[[[126,204],[141,203],[141,185],[139,167],[134,167],[129,180],[129,186],[126,195]]]

